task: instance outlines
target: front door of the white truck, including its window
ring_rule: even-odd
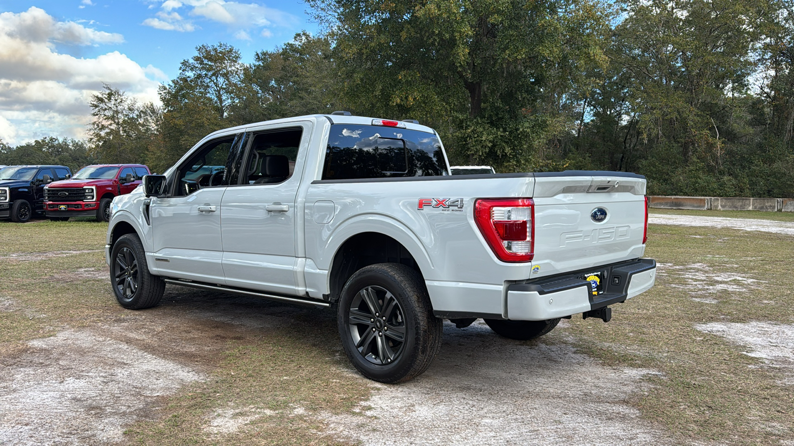
[[[229,183],[225,166],[238,149],[235,136],[202,144],[169,175],[166,198],[151,198],[150,264],[158,275],[224,284],[222,198]]]

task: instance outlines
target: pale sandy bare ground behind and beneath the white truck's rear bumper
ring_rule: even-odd
[[[324,417],[330,433],[366,446],[673,443],[625,402],[653,371],[604,367],[567,344],[507,340],[481,321],[444,329],[424,375],[378,386],[363,416]]]

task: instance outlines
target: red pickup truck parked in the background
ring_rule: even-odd
[[[143,164],[94,164],[83,167],[71,179],[44,188],[44,213],[50,220],[96,217],[110,220],[110,202],[129,194],[151,172]]]

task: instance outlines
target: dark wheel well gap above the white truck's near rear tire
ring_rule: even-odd
[[[331,302],[337,302],[350,276],[375,263],[402,263],[422,275],[414,256],[399,241],[381,233],[360,233],[345,240],[333,256],[329,283]]]

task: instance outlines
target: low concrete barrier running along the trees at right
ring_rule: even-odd
[[[761,210],[794,212],[794,198],[677,197],[652,195],[649,207],[685,210]]]

